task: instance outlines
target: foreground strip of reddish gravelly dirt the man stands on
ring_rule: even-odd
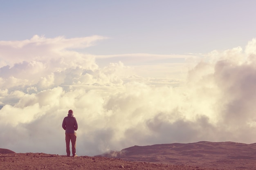
[[[0,155],[0,170],[214,170],[186,165],[124,161],[106,157],[65,157],[44,153]]]

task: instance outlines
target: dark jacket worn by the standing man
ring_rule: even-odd
[[[76,118],[72,114],[68,114],[67,117],[63,119],[62,128],[66,133],[74,133],[78,128]]]

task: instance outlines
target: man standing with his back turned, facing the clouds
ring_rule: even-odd
[[[76,156],[76,132],[78,124],[76,118],[73,115],[73,110],[68,110],[68,115],[63,119],[62,128],[65,130],[66,134],[66,151],[67,157],[70,157],[70,140],[72,144],[72,154],[73,157]]]

